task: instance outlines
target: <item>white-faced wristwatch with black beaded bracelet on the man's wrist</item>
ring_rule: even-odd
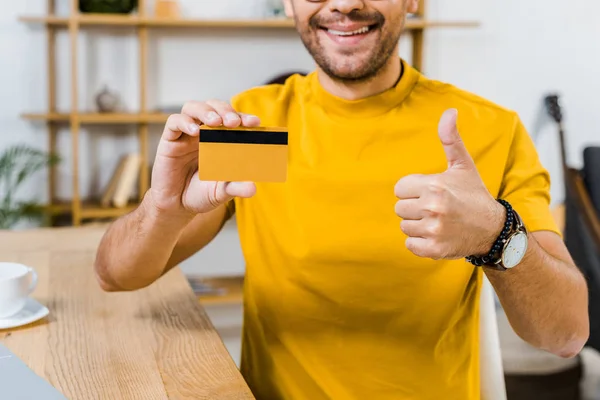
[[[519,214],[506,200],[497,201],[506,208],[506,220],[502,232],[487,255],[468,256],[467,261],[475,266],[506,271],[519,265],[527,252],[527,228]]]

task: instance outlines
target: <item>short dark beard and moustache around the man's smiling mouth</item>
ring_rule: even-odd
[[[359,54],[352,50],[328,53],[321,43],[323,37],[319,31],[327,24],[347,20],[370,24],[372,31],[369,34],[378,35],[379,39],[375,41],[374,46],[366,51],[360,51]],[[395,25],[397,29],[390,31],[389,26],[385,24],[385,17],[377,11],[358,12],[355,10],[341,18],[329,19],[314,15],[308,25],[304,27],[296,20],[298,33],[306,50],[323,72],[331,79],[340,82],[364,82],[377,76],[397,50],[404,24]]]

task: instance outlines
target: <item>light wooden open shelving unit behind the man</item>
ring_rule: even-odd
[[[85,219],[113,218],[127,213],[137,203],[125,208],[103,208],[95,204],[82,201],[79,186],[79,134],[83,125],[99,124],[135,124],[139,142],[139,152],[142,156],[142,165],[139,174],[138,201],[148,190],[149,170],[145,168],[149,162],[148,153],[148,127],[151,124],[164,124],[168,115],[152,113],[146,105],[147,63],[148,63],[148,30],[149,29],[279,29],[293,30],[293,21],[288,19],[229,19],[229,20],[202,20],[202,19],[164,19],[146,15],[146,2],[139,0],[138,11],[135,15],[111,14],[82,14],[79,12],[78,0],[70,0],[71,10],[68,16],[58,16],[55,11],[55,0],[48,0],[47,15],[23,16],[20,21],[26,24],[43,25],[47,32],[47,63],[48,63],[48,110],[42,113],[22,114],[22,118],[30,121],[43,122],[48,127],[48,145],[51,152],[56,152],[58,128],[68,124],[71,133],[72,151],[72,188],[73,196],[68,204],[56,202],[55,186],[56,171],[52,168],[49,172],[49,198],[48,210],[50,215],[69,214],[73,225],[80,225]],[[412,36],[413,51],[411,63],[417,69],[423,70],[423,45],[424,31],[429,28],[471,28],[477,27],[477,22],[471,21],[431,21],[425,13],[425,0],[421,0],[418,13],[407,20],[406,31]],[[136,31],[139,41],[139,87],[140,87],[140,112],[139,113],[82,113],[78,109],[78,57],[77,40],[81,30],[86,28],[114,28],[128,27]],[[56,34],[60,30],[67,30],[70,38],[71,51],[71,110],[59,112],[56,108]]]

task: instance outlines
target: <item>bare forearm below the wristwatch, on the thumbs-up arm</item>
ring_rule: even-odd
[[[485,269],[515,332],[531,345],[562,357],[579,353],[589,334],[586,282],[568,254],[550,254],[542,232],[529,234],[521,264]],[[539,239],[539,240],[538,240]]]

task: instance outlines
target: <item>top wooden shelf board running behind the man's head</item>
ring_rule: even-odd
[[[67,28],[70,23],[80,26],[127,26],[149,28],[275,28],[292,29],[291,19],[163,19],[146,18],[130,15],[88,14],[76,17],[38,16],[21,17],[25,23],[45,24],[57,28]],[[406,29],[425,28],[470,28],[479,26],[475,21],[429,21],[419,18],[409,18]]]

